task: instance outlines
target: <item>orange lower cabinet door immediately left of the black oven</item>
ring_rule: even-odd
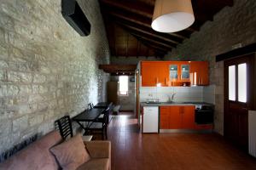
[[[183,129],[194,129],[195,128],[195,106],[185,105],[183,106]]]

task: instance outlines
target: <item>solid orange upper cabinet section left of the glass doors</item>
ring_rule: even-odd
[[[142,61],[142,86],[168,85],[168,64],[164,61]]]

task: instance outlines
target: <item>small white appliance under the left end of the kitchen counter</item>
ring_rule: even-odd
[[[159,133],[158,106],[143,107],[143,133]]]

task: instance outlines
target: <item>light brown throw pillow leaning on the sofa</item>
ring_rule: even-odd
[[[90,155],[85,150],[80,134],[56,145],[50,151],[55,155],[64,170],[73,170],[90,160]]]

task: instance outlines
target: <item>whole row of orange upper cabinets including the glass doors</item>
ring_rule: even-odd
[[[142,61],[142,86],[208,85],[207,61]]]

